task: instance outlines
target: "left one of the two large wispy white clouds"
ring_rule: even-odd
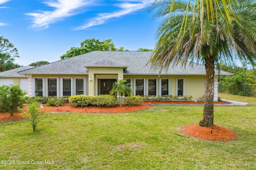
[[[94,0],[95,1],[95,0]],[[38,11],[26,15],[33,17],[32,27],[48,28],[50,23],[63,20],[66,17],[78,14],[79,9],[85,5],[91,5],[93,0],[48,0],[44,2],[47,6],[54,7],[54,11]]]

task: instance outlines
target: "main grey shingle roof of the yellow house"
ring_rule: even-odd
[[[88,68],[85,66],[95,66],[100,64],[110,64],[127,67],[124,74],[159,74],[158,70],[151,70],[150,64],[146,63],[150,59],[150,51],[92,51],[82,55],[74,56],[68,59],[56,61],[54,63],[35,67],[29,70],[19,72],[20,74],[88,74]],[[106,63],[104,63],[104,61]],[[216,71],[217,73],[217,71]],[[170,66],[167,72],[160,74],[173,75],[205,75],[204,65],[181,64]],[[221,71],[221,75],[230,75],[231,73]]]

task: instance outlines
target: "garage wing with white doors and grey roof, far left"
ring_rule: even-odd
[[[0,72],[0,86],[6,85],[19,86],[21,90],[28,93],[28,75],[16,74],[16,72],[34,68],[33,66],[23,66],[19,68],[14,68],[12,70],[7,70]]]

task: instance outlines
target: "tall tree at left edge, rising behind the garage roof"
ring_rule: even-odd
[[[17,68],[13,62],[18,56],[18,50],[8,39],[0,37],[0,72]]]

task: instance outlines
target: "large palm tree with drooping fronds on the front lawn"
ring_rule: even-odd
[[[158,42],[148,63],[162,71],[188,61],[205,64],[205,104],[199,125],[214,120],[214,73],[220,62],[236,59],[255,66],[256,2],[254,0],[155,0],[149,12],[163,17]],[[212,3],[209,7],[209,3]],[[199,8],[200,7],[200,8]],[[208,10],[211,8],[211,10]]]

